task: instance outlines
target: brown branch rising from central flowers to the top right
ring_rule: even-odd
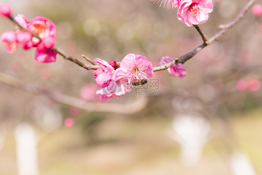
[[[202,45],[198,46],[196,49],[192,50],[191,52],[187,53],[186,55],[183,55],[182,57],[176,58],[175,60],[165,63],[162,66],[157,66],[157,67],[153,67],[154,71],[162,71],[167,69],[168,67],[171,67],[174,64],[177,63],[184,63],[187,60],[189,60],[190,58],[192,58],[193,56],[196,55],[196,53],[198,53],[200,50],[202,50],[204,47],[211,45],[214,41],[219,40],[231,27],[233,27],[235,24],[237,24],[237,22],[239,22],[239,20],[241,20],[245,13],[247,12],[248,9],[250,9],[250,7],[256,2],[256,0],[250,0],[245,6],[244,8],[241,10],[241,12],[235,16],[235,18],[233,18],[230,22],[228,22],[227,24],[224,25],[220,25],[219,27],[221,28],[220,31],[218,31],[215,35],[213,35],[208,41],[208,45],[206,45],[205,43],[203,43]]]

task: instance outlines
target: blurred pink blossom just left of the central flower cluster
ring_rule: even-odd
[[[90,100],[96,100],[97,95],[96,95],[97,87],[94,84],[87,84],[86,86],[82,87],[80,90],[80,98],[85,100],[85,101],[90,101]]]

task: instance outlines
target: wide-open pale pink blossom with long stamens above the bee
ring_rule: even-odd
[[[147,57],[133,53],[129,53],[123,58],[120,67],[127,70],[131,80],[149,79],[154,73],[153,65]]]

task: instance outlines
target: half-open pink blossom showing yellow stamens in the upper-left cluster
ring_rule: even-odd
[[[40,38],[47,38],[56,36],[55,24],[43,16],[33,18],[28,24],[28,30],[39,35]]]

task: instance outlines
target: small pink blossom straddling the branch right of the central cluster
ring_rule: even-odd
[[[162,57],[162,60],[160,61],[160,65],[163,65],[163,64],[168,63],[170,61],[173,61],[173,59],[168,57],[168,56]],[[171,67],[168,67],[167,70],[168,70],[169,74],[171,74],[175,77],[184,78],[187,75],[185,67],[181,63],[174,64]]]

